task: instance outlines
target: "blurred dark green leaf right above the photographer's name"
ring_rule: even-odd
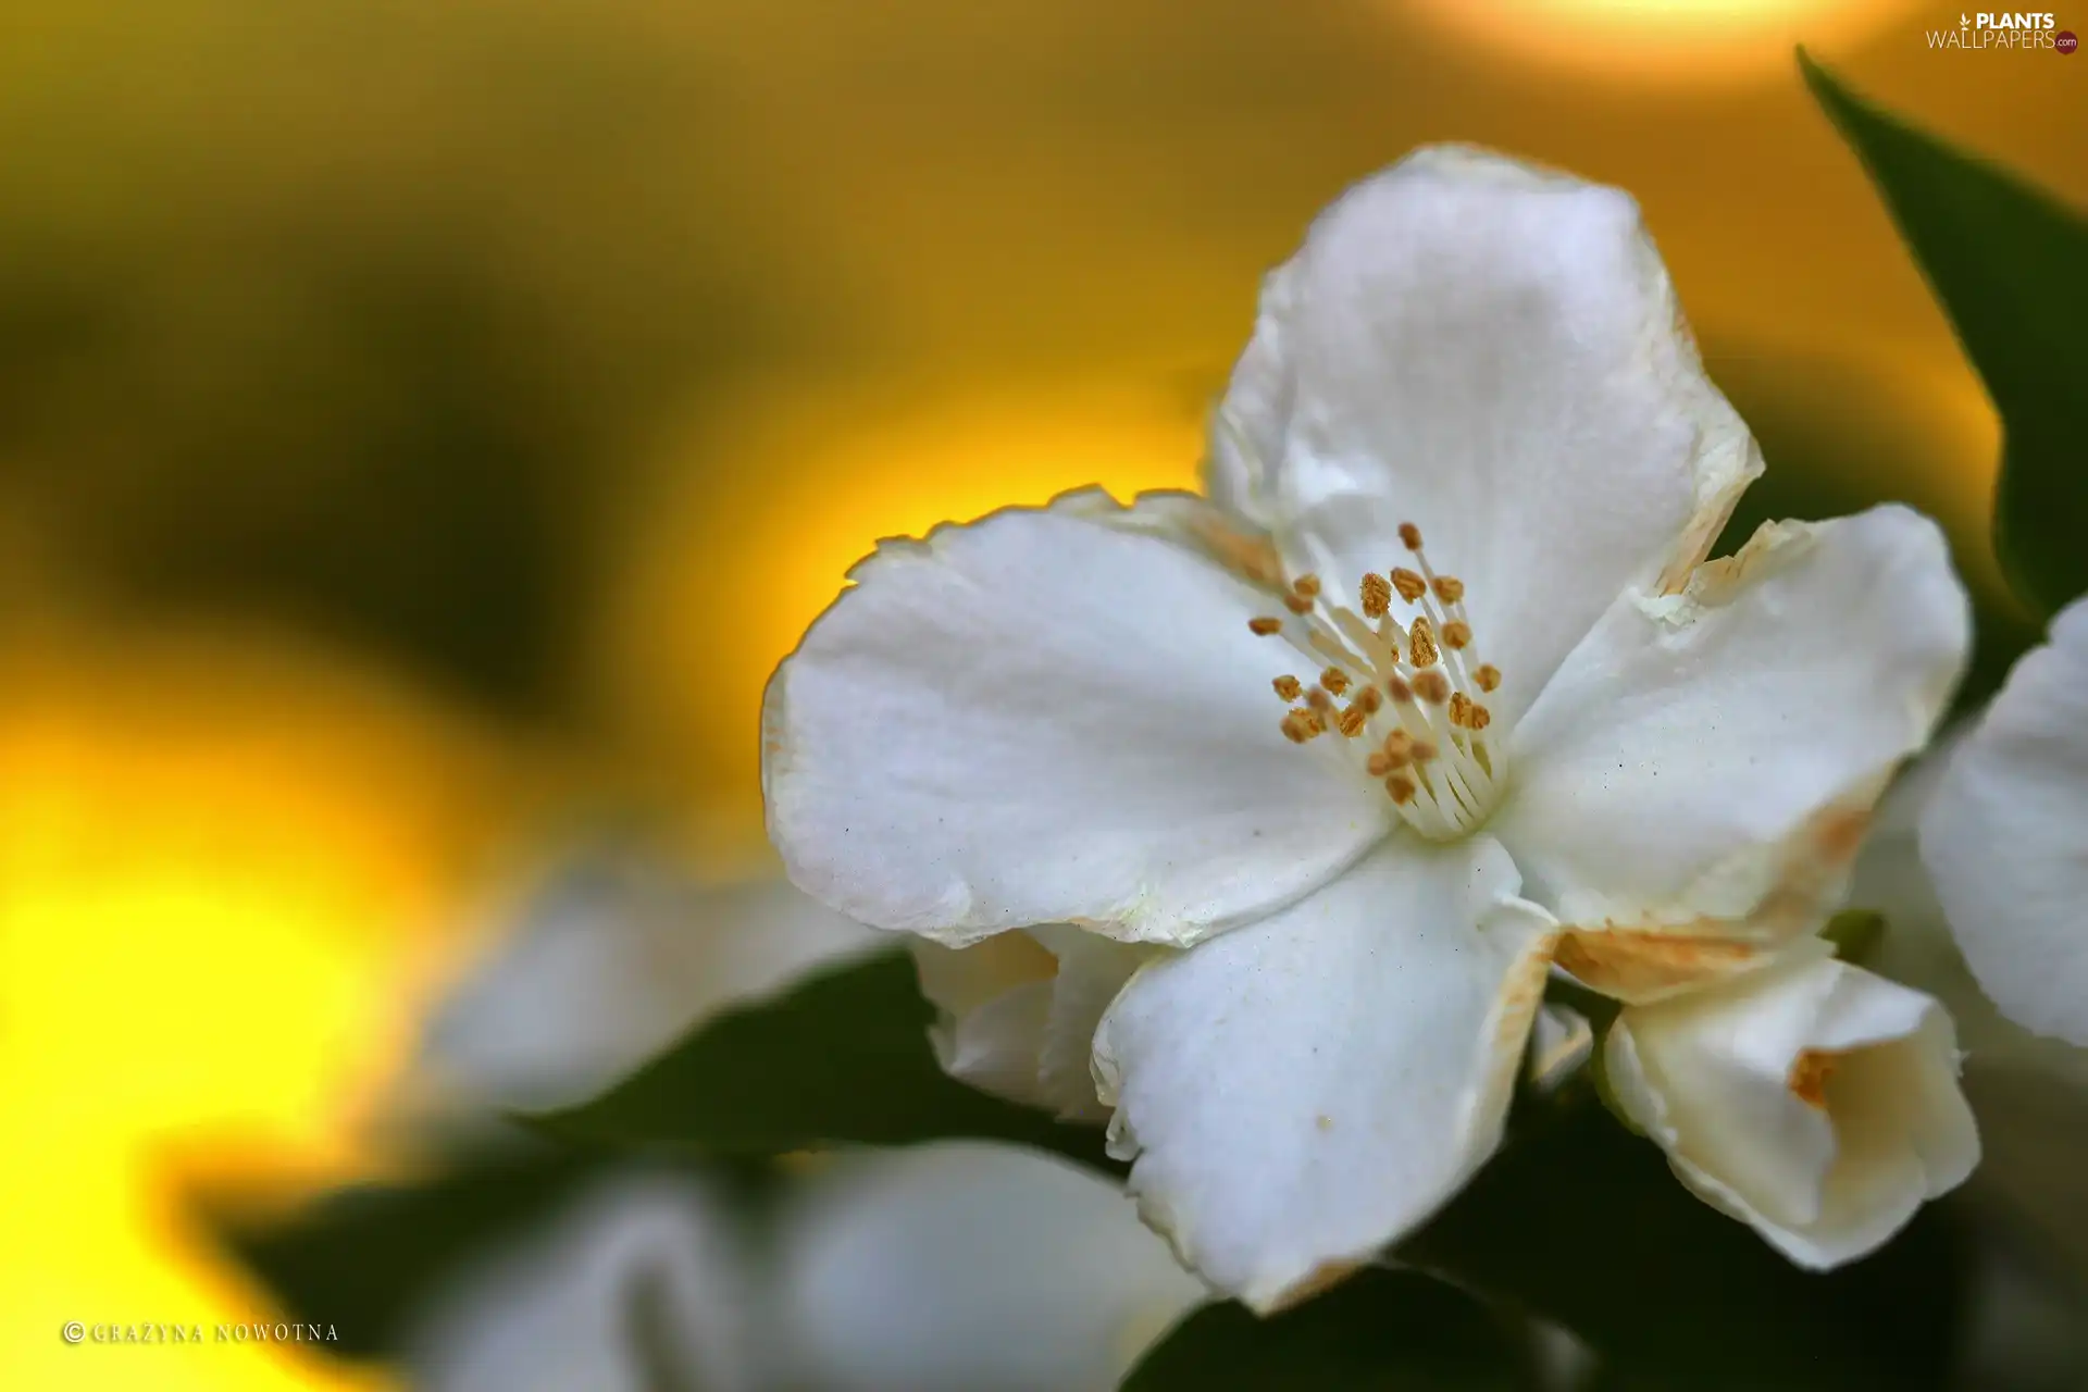
[[[288,1215],[242,1213],[232,1196],[198,1206],[219,1246],[288,1319],[334,1327],[340,1340],[317,1348],[382,1359],[449,1273],[597,1171],[593,1156],[532,1146],[418,1183],[334,1190]]]

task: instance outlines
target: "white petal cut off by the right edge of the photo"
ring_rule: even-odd
[[[1994,1004],[2088,1043],[2088,601],[2053,620],[1950,760],[1921,858]]]

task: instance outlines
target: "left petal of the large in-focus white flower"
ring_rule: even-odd
[[[887,543],[768,682],[768,831],[833,908],[946,943],[1192,941],[1330,879],[1389,801],[1278,730],[1280,611],[1094,495]],[[1295,653],[1292,664],[1295,666]]]

